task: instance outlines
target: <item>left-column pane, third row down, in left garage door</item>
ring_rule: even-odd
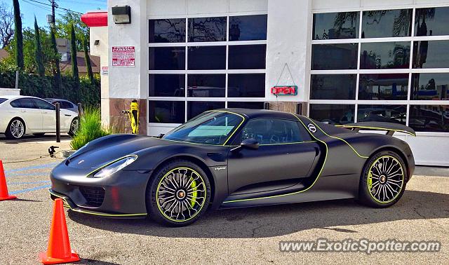
[[[185,97],[184,74],[150,74],[150,97]]]

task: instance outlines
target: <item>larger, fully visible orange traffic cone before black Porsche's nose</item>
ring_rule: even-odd
[[[43,264],[62,264],[79,261],[79,255],[70,249],[69,232],[67,231],[61,198],[55,200],[47,252],[40,253],[39,260]]]

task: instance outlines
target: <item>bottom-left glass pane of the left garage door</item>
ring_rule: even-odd
[[[184,123],[184,101],[149,101],[148,116],[150,123]]]

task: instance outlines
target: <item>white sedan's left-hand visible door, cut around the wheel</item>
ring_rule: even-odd
[[[42,113],[31,97],[22,97],[10,104],[17,111],[17,115],[25,121],[25,132],[42,131]]]

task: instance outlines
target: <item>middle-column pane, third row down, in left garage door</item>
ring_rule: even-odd
[[[225,74],[189,74],[187,93],[189,97],[225,97]]]

